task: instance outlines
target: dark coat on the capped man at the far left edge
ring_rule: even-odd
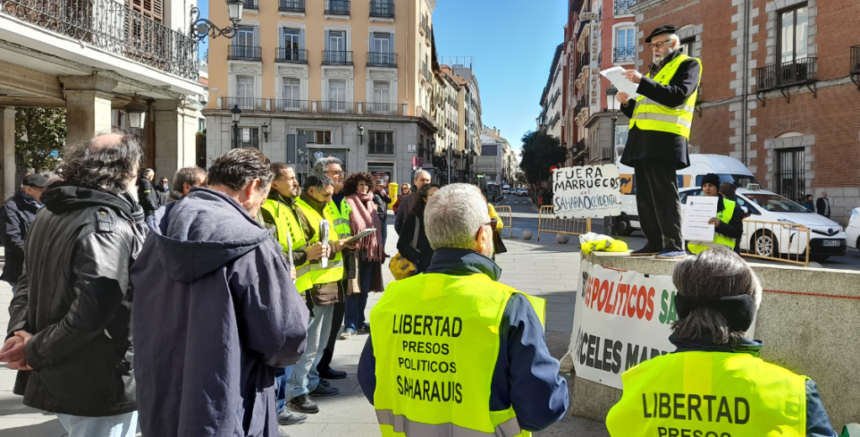
[[[18,189],[0,208],[0,241],[6,249],[6,265],[0,280],[18,282],[24,270],[24,238],[42,204]]]

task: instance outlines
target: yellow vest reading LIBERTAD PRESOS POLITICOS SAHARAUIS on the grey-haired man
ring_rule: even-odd
[[[482,274],[422,274],[388,286],[370,313],[383,436],[531,435],[513,407],[490,411],[499,325],[514,293]],[[543,323],[546,303],[526,297]]]

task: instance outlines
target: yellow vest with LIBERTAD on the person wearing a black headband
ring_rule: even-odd
[[[746,353],[680,352],[624,372],[613,437],[804,437],[806,377]]]

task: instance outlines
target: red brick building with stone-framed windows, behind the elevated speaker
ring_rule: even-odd
[[[647,0],[644,36],[674,23],[702,60],[692,152],[729,155],[766,189],[800,201],[827,192],[845,224],[860,206],[860,3],[854,0]]]

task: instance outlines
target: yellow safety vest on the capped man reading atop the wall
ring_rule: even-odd
[[[660,85],[668,85],[678,71],[678,67],[685,60],[690,59],[690,56],[680,54],[672,59],[671,62],[663,66],[654,81]],[[702,82],[702,61],[695,59],[699,63],[699,83]],[[647,77],[651,77],[648,73]],[[636,98],[636,107],[633,108],[633,117],[630,118],[630,129],[638,127],[642,130],[651,130],[659,132],[668,132],[670,134],[681,135],[686,139],[690,139],[690,126],[693,125],[693,112],[695,112],[696,98],[699,95],[698,85],[696,91],[687,98],[687,101],[682,105],[670,108],[661,105],[648,97],[640,95]]]

